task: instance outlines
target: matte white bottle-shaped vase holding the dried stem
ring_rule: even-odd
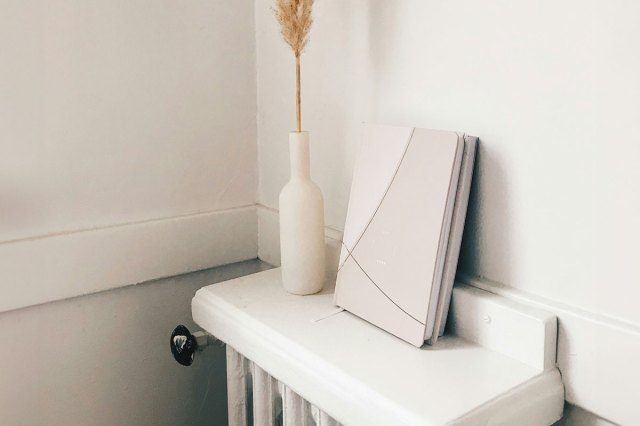
[[[282,283],[289,293],[313,294],[325,275],[324,201],[310,176],[309,133],[289,133],[291,179],[280,192]]]

